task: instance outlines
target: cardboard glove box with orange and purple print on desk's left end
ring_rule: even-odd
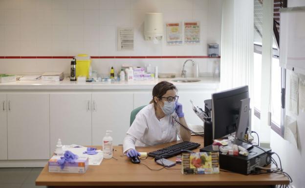
[[[57,163],[60,160],[61,156],[53,156],[48,162],[48,171],[49,172],[58,172],[58,173],[79,173],[83,174],[86,172],[89,161],[88,157],[79,157],[75,160],[75,163],[65,163],[65,167],[61,169],[60,165]]]

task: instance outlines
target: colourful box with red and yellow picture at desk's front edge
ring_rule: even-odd
[[[182,153],[182,174],[218,174],[218,152]]]

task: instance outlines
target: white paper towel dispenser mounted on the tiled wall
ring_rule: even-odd
[[[146,41],[159,42],[163,37],[163,14],[146,13],[144,21],[144,38]]]

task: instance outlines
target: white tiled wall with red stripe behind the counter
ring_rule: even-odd
[[[219,43],[222,0],[0,0],[0,56],[206,56],[207,43]],[[144,40],[144,14],[162,12],[164,22],[200,21],[200,44],[168,46]],[[134,51],[117,51],[118,26],[134,27]],[[164,36],[166,29],[164,27]],[[185,59],[93,59],[109,66],[151,63],[159,72],[181,71]],[[196,59],[201,73],[219,59]],[[65,71],[69,59],[0,59],[1,73]]]

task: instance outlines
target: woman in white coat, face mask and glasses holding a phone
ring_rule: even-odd
[[[169,82],[160,82],[152,89],[152,101],[136,115],[123,142],[123,152],[128,157],[140,156],[135,146],[154,146],[176,141],[190,141],[191,133],[177,124],[187,124],[178,103],[176,87]]]

